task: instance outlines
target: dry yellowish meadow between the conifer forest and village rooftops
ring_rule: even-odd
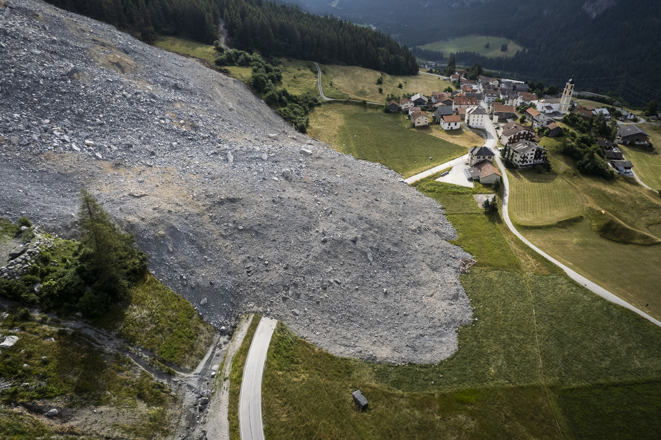
[[[346,94],[346,96],[337,96],[338,98],[350,97],[357,100],[383,102],[383,104],[389,93],[395,96],[401,96],[404,93],[422,93],[430,98],[432,92],[443,91],[446,87],[451,86],[448,81],[422,73],[406,77],[384,73],[383,84],[377,85],[376,82],[381,76],[381,72],[364,67],[321,65],[321,71],[321,85],[327,96],[334,97],[329,94],[329,91],[336,91]],[[401,89],[398,87],[400,83]],[[383,93],[379,93],[379,87],[383,89]]]

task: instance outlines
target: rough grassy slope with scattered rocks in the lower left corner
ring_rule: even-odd
[[[0,266],[4,266],[9,249],[2,244],[11,242],[18,231],[7,219],[0,219],[0,226]],[[77,243],[46,234],[34,239],[53,242],[32,258],[30,273],[60,270],[75,262]],[[19,285],[26,279],[28,275],[3,283],[5,287]],[[192,369],[198,365],[215,333],[188,301],[149,273],[130,287],[122,303],[102,318],[86,322],[69,316],[66,306],[58,316],[7,303],[7,309],[0,307],[0,340],[5,336],[19,339],[13,348],[0,352],[0,402],[3,408],[7,406],[0,411],[3,439],[58,434],[167,437],[180,408],[163,375],[175,373],[172,367]],[[112,338],[108,338],[110,334]],[[153,354],[145,350],[144,355],[136,355],[141,349]],[[58,425],[56,419],[44,424],[21,406],[33,414],[58,408],[69,423]],[[90,406],[100,410],[93,423],[75,414],[91,411]]]

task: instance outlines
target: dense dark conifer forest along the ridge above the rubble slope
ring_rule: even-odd
[[[382,32],[298,7],[263,0],[48,0],[144,40],[157,34],[212,43],[222,19],[235,48],[265,56],[360,65],[392,75],[415,75],[416,58]]]

